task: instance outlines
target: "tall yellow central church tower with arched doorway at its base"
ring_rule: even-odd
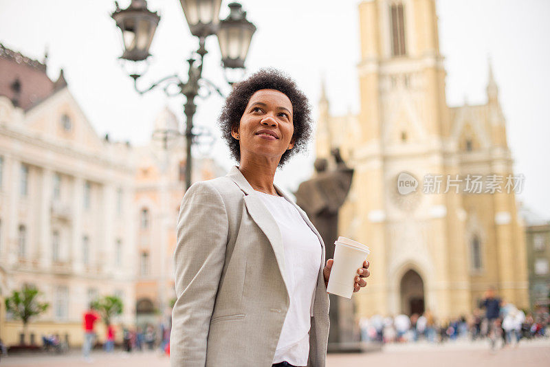
[[[361,148],[355,153],[360,233],[372,248],[365,313],[470,311],[459,196],[423,194],[426,174],[456,175],[433,0],[359,6]],[[400,193],[408,177],[415,191]],[[372,302],[375,298],[375,302]],[[451,306],[452,305],[452,306]]]

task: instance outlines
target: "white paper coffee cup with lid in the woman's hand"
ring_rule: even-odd
[[[340,242],[340,239],[349,242],[349,238],[340,237],[334,243],[334,259],[327,285],[327,292],[337,296],[351,298],[353,294],[353,285],[355,276],[358,276],[357,269],[363,267],[363,262],[371,253],[366,245],[352,241],[357,245]]]

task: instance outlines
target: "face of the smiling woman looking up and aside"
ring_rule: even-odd
[[[292,103],[280,91],[260,89],[250,97],[239,126],[231,135],[241,141],[241,161],[243,157],[264,156],[278,160],[287,149],[294,146],[294,123]],[[275,136],[265,135],[265,130]]]

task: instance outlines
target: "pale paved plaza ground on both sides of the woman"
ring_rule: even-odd
[[[115,351],[92,353],[92,361],[85,362],[79,351],[66,355],[14,355],[2,358],[3,366],[11,367],[169,367],[166,355],[156,351],[126,354]],[[454,342],[442,345],[389,344],[382,351],[362,354],[329,354],[327,367],[384,366],[384,367],[512,367],[550,366],[550,340],[522,342],[518,348],[503,348],[489,351],[486,342]]]

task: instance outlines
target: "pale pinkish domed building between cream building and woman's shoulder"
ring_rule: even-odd
[[[165,108],[155,120],[155,140],[135,148],[135,282],[137,325],[168,322],[175,299],[172,254],[179,204],[185,191],[184,137],[164,142],[162,132],[181,131],[177,118]],[[165,135],[166,136],[166,135]],[[198,153],[198,152],[197,152]],[[195,153],[195,156],[197,155]],[[227,173],[208,157],[194,157],[192,182]],[[162,320],[159,320],[162,318]]]

